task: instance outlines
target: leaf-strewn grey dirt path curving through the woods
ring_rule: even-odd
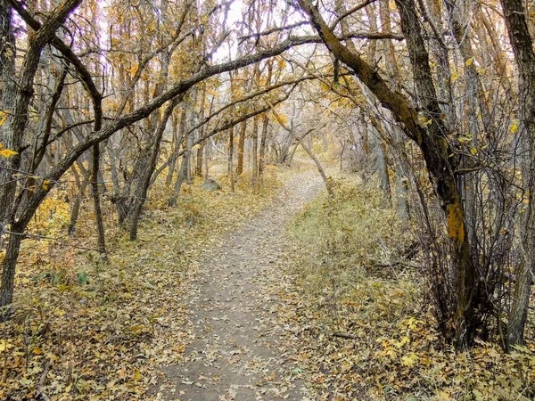
[[[321,189],[315,172],[292,176],[273,204],[206,253],[189,299],[193,342],[164,369],[157,399],[309,400],[276,309],[284,226]],[[284,305],[282,306],[284,307]]]

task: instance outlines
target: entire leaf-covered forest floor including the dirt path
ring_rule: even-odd
[[[24,242],[0,324],[0,399],[534,399],[535,342],[441,340],[407,222],[373,183],[322,160],[331,199],[297,161],[269,166],[260,191],[247,174],[235,192],[224,173],[218,192],[195,180],[173,208],[157,183],[137,241],[104,209],[107,264],[87,250],[90,205],[70,238],[54,193],[30,231],[58,241]]]

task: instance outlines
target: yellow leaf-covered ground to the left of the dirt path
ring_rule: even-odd
[[[24,241],[14,312],[0,327],[0,399],[148,399],[159,367],[180,361],[190,340],[182,297],[202,252],[280,186],[275,168],[256,192],[244,178],[229,192],[218,178],[224,191],[202,191],[197,179],[175,208],[167,206],[171,189],[157,182],[134,242],[104,203],[108,264],[91,250],[90,201],[70,238],[69,193],[53,192],[29,231],[56,240]]]

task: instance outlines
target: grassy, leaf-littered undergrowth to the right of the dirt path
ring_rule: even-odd
[[[373,187],[336,181],[288,229],[298,262],[300,366],[320,400],[535,397],[535,344],[506,355],[476,340],[456,352],[436,330],[407,223]],[[306,296],[303,298],[302,294]]]

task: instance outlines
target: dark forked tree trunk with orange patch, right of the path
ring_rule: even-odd
[[[299,4],[309,15],[312,26],[322,37],[327,48],[355,72],[357,78],[374,93],[383,107],[391,110],[394,118],[403,125],[405,134],[422,150],[447,219],[452,246],[452,264],[457,279],[455,338],[458,347],[465,347],[472,339],[477,326],[472,297],[475,272],[465,229],[465,211],[457,191],[454,174],[458,160],[446,137],[446,133],[449,132],[446,123],[440,119],[441,110],[432,82],[429,55],[416,16],[416,5],[412,0],[400,0],[396,3],[413,66],[418,108],[422,110],[426,120],[432,120],[432,124],[428,126],[423,126],[419,122],[416,107],[407,97],[399,92],[392,92],[376,70],[357,53],[342,45],[314,5],[308,0],[300,0]]]

